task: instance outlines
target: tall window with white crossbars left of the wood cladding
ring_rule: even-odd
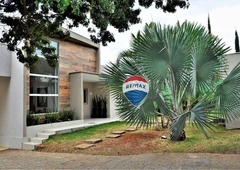
[[[51,41],[58,53],[58,43]],[[41,51],[37,51],[40,54]],[[58,111],[58,68],[51,68],[43,56],[30,69],[30,113]]]

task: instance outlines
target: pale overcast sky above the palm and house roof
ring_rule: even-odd
[[[208,14],[210,16],[211,32],[213,35],[222,39],[226,46],[231,47],[235,52],[235,30],[240,36],[240,0],[189,0],[188,9],[177,8],[175,13],[164,13],[161,9],[155,9],[154,6],[145,9],[141,8],[141,24],[132,25],[129,31],[118,33],[117,30],[110,27],[114,34],[115,42],[108,46],[101,46],[101,65],[115,62],[118,54],[130,47],[131,34],[141,31],[146,23],[156,22],[162,25],[175,25],[177,21],[181,23],[185,20],[196,22],[207,29]],[[86,28],[74,28],[74,32],[89,38]]]

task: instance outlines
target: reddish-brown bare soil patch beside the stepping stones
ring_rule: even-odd
[[[41,144],[37,150],[46,152],[70,152],[91,155],[137,155],[145,153],[160,152],[166,135],[165,131],[147,131],[147,132],[127,132],[119,138],[105,138],[102,142],[87,149],[74,149],[76,145],[84,143],[58,143],[58,144]]]

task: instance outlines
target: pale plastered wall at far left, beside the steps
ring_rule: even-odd
[[[15,53],[10,58],[10,77],[0,77],[0,145],[21,149],[25,131],[24,66]]]

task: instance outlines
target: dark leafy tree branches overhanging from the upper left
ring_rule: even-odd
[[[139,5],[148,8],[153,3],[164,12],[175,12],[176,7],[187,8],[188,0],[138,0]],[[10,51],[16,51],[20,62],[32,66],[38,60],[36,49],[42,51],[50,66],[58,64],[48,38],[66,38],[69,32],[62,31],[65,23],[68,29],[85,26],[95,43],[107,45],[114,42],[114,35],[108,30],[113,26],[124,32],[133,24],[141,22],[140,9],[134,9],[135,0],[1,0],[0,22],[5,25],[1,43]],[[97,32],[96,32],[97,30]],[[23,46],[18,46],[23,42]],[[24,51],[24,52],[23,52]]]

